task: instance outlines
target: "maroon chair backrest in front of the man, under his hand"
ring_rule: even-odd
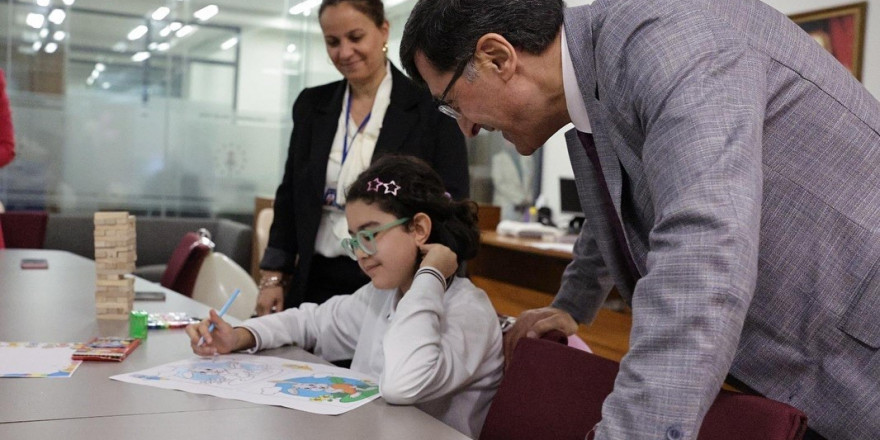
[[[601,420],[618,363],[563,345],[567,338],[561,333],[550,337],[519,341],[481,440],[583,440]],[[806,415],[796,408],[722,390],[697,438],[797,440],[805,430]]]

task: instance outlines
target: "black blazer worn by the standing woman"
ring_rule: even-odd
[[[371,160],[389,153],[419,157],[440,174],[452,197],[467,197],[467,149],[458,125],[437,111],[426,89],[416,86],[394,65],[391,81],[391,102]],[[293,133],[284,178],[275,194],[275,219],[260,263],[265,270],[293,273],[285,306],[302,302],[321,220],[327,161],[347,86],[342,80],[307,88],[293,104]]]

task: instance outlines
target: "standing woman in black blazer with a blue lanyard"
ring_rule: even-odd
[[[321,303],[369,282],[339,242],[347,234],[343,189],[373,160],[416,156],[443,177],[452,197],[467,197],[470,189],[455,121],[385,58],[382,2],[324,0],[318,17],[327,53],[345,79],[305,89],[293,105],[284,178],[260,263],[260,315]]]

